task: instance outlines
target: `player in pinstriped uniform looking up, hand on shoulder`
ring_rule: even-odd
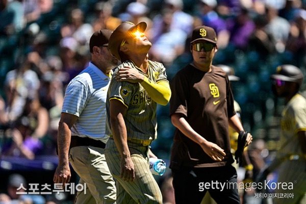
[[[149,144],[157,138],[157,103],[166,105],[171,91],[165,67],[147,59],[151,43],[145,22],[121,23],[110,37],[116,67],[107,96],[105,156],[116,179],[117,203],[162,203],[149,169]],[[130,68],[129,68],[130,67]]]

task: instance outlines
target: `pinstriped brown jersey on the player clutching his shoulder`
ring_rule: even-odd
[[[132,61],[125,61],[115,69],[114,75],[118,69],[125,65],[137,69],[153,82],[167,81],[165,67],[159,62],[149,60],[148,71],[145,74]],[[157,104],[150,98],[140,83],[117,82],[115,77],[111,80],[106,101],[107,135],[112,135],[109,110],[109,100],[111,99],[120,100],[127,107],[124,116],[127,137],[143,140],[155,140],[157,138]]]

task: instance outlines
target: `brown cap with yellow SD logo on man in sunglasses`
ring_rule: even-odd
[[[217,44],[217,34],[211,27],[201,25],[193,29],[191,43],[197,40],[206,40]]]

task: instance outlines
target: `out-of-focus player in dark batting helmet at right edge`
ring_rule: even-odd
[[[273,93],[285,97],[286,101],[280,126],[281,148],[272,163],[258,176],[258,182],[279,167],[277,182],[287,186],[292,183],[293,189],[278,187],[273,203],[306,203],[306,99],[298,93],[303,74],[298,67],[285,64],[276,68],[271,79]],[[284,197],[288,193],[292,193],[292,197]]]

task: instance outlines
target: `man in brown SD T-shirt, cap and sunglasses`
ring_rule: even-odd
[[[171,148],[175,203],[200,203],[207,191],[217,203],[240,203],[236,169],[231,165],[228,124],[243,126],[234,110],[226,73],[212,65],[217,52],[216,32],[206,26],[193,30],[193,62],[171,82],[170,116],[176,127]],[[247,134],[244,146],[250,144]],[[223,189],[216,185],[225,186]]]

